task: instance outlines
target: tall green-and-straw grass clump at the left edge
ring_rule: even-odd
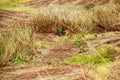
[[[27,29],[12,29],[0,35],[0,66],[21,64],[35,53],[34,32]]]

